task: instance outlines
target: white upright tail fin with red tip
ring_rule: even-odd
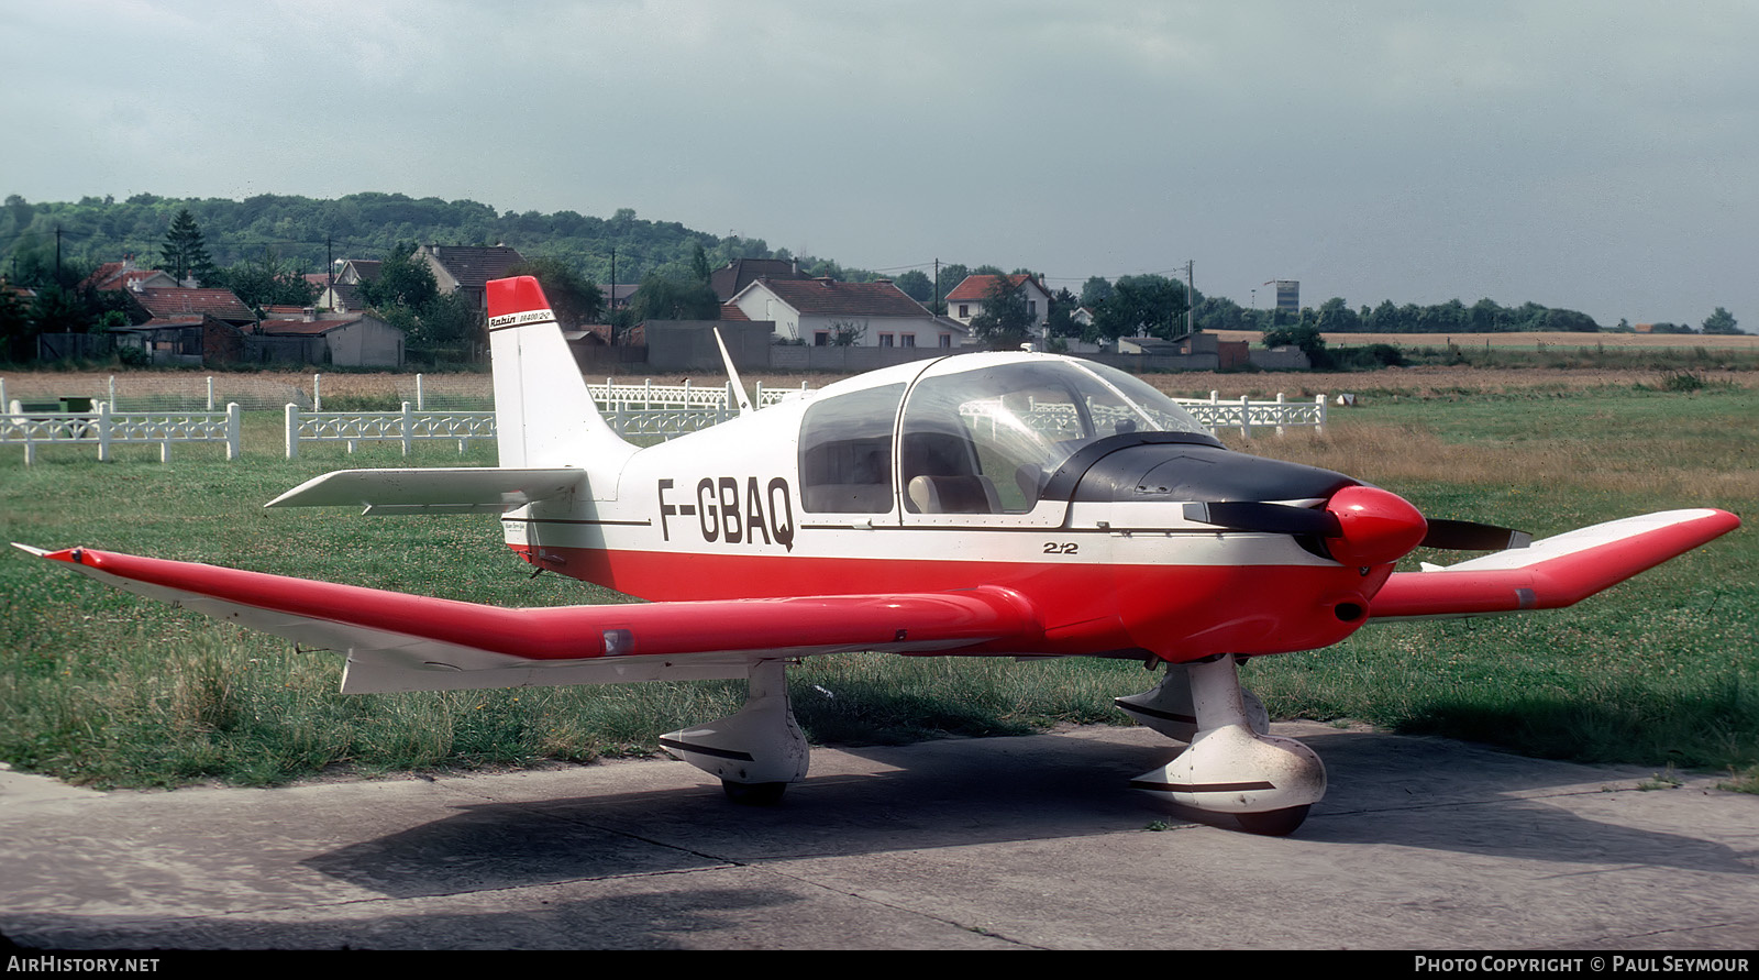
[[[598,472],[635,452],[593,405],[538,280],[489,282],[489,357],[501,466]]]

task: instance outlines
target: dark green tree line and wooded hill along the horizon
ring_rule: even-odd
[[[125,201],[84,197],[79,202],[32,204],[9,195],[0,208],[0,273],[12,285],[33,287],[28,304],[0,294],[0,338],[14,357],[35,333],[81,333],[127,322],[118,297],[83,296],[76,287],[102,262],[134,253],[137,264],[157,264],[179,282],[225,287],[248,306],[310,304],[317,289],[304,273],[324,271],[339,259],[378,259],[401,285],[369,285],[368,303],[412,338],[412,350],[463,350],[473,325],[461,310],[442,303],[438,290],[420,282],[426,269],[410,262],[417,243],[512,245],[533,260],[545,289],[568,294],[579,322],[609,318],[628,327],[646,318],[714,318],[719,303],[709,289],[709,271],[734,259],[795,259],[770,250],[763,239],[712,236],[677,222],[649,222],[623,208],[610,218],[558,211],[498,213],[475,201],[412,199],[401,194],[352,194],[331,201],[297,195],[229,199],[169,199],[137,194]],[[828,259],[802,257],[802,271],[841,282],[881,278],[867,269]],[[1006,276],[997,266],[938,264],[934,276],[908,269],[892,282],[934,313],[946,313],[945,296],[971,274]],[[1015,269],[1011,274],[1034,274]],[[1043,282],[1041,276],[1038,276]],[[631,310],[607,310],[600,283],[639,282]],[[1085,315],[1082,313],[1085,311]],[[1314,338],[1349,333],[1520,333],[1602,327],[1585,313],[1537,303],[1502,306],[1458,299],[1420,306],[1349,306],[1332,297],[1300,311],[1249,310],[1228,297],[1187,290],[1161,274],[1092,276],[1080,294],[1059,289],[1050,296],[1052,345],[1069,340],[1115,341],[1124,336],[1173,338],[1186,329],[1259,331],[1266,341],[1317,348]],[[985,297],[985,313],[973,324],[990,347],[1008,348],[1027,340],[1033,317],[1011,289]],[[1632,329],[1620,322],[1611,329]],[[1689,325],[1657,324],[1657,333],[1696,333]],[[1734,317],[1720,306],[1703,333],[1738,333]]]

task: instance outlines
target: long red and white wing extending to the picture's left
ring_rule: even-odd
[[[744,677],[813,653],[931,653],[1041,637],[1017,593],[837,595],[503,609],[74,547],[40,551],[102,582],[348,655],[345,693]]]

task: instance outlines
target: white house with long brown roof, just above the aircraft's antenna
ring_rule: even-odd
[[[744,320],[770,320],[785,343],[814,347],[964,347],[971,331],[936,317],[892,280],[841,283],[760,278],[730,301]]]

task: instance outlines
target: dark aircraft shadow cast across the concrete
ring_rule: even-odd
[[[1741,853],[1687,834],[1578,816],[1514,792],[1580,786],[1595,769],[1506,757],[1444,739],[1309,735],[1332,788],[1295,841],[1393,845],[1548,862],[1741,873]],[[1175,742],[1040,735],[841,750],[894,767],[807,776],[779,806],[719,786],[468,806],[306,864],[387,896],[746,866],[1004,841],[1101,837],[1150,823],[1228,827],[1128,788]],[[1465,764],[1462,764],[1462,755]],[[1625,779],[1624,788],[1631,783]],[[1193,837],[1194,841],[1194,837]],[[1170,846],[1179,841],[1170,839]]]

